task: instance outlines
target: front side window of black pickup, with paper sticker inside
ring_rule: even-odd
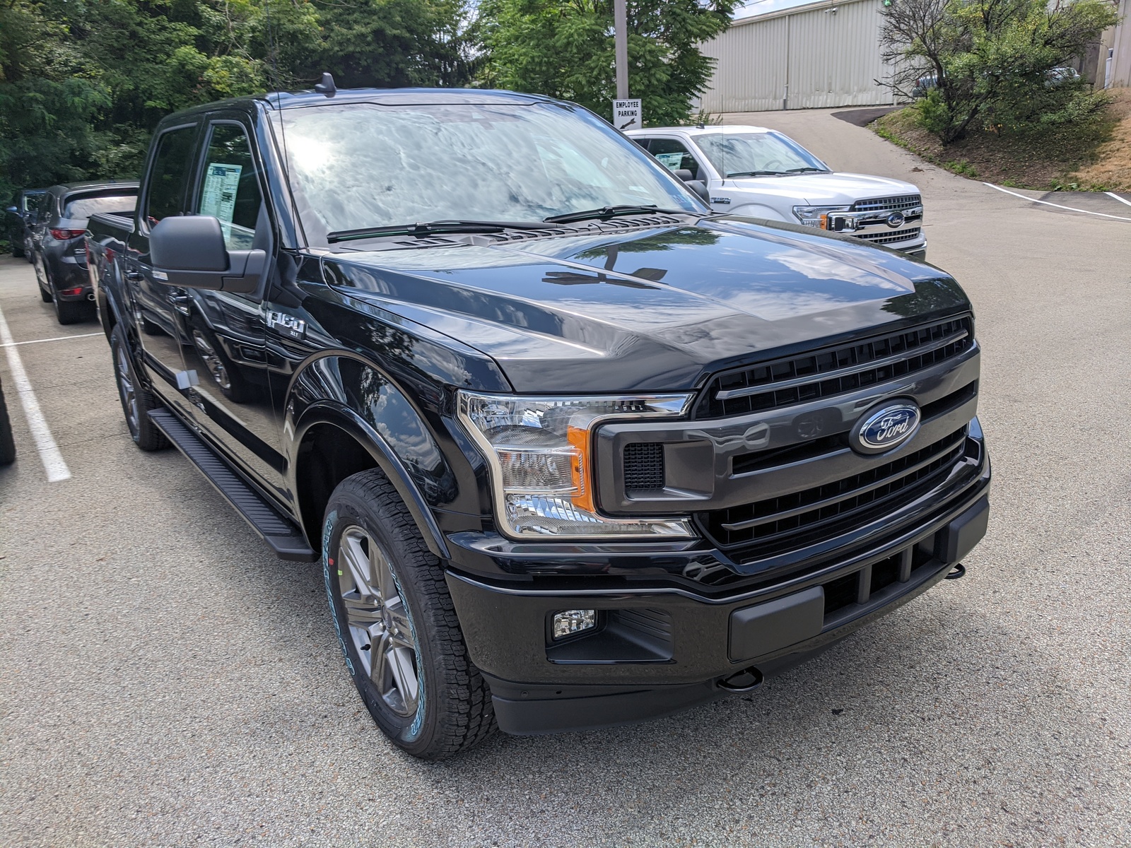
[[[197,214],[219,218],[228,250],[250,250],[261,205],[248,135],[238,124],[215,124],[200,180]]]

